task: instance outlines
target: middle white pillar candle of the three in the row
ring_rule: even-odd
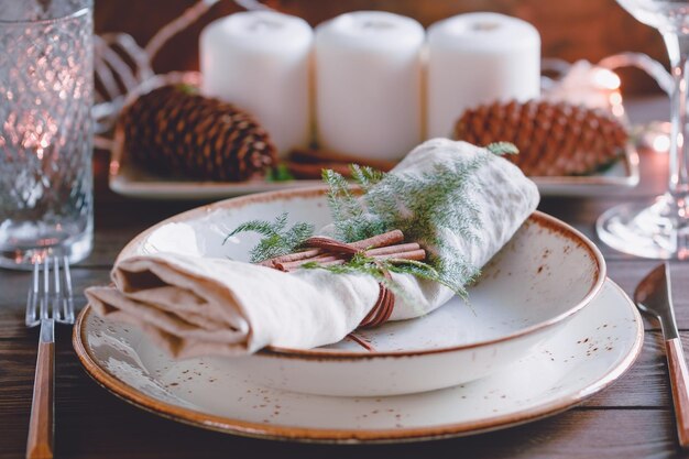
[[[316,124],[321,149],[400,160],[422,140],[424,28],[382,11],[316,28]]]

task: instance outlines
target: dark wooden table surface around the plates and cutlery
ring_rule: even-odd
[[[658,100],[636,101],[633,120],[665,116]],[[136,233],[196,203],[123,199],[107,189],[103,153],[96,155],[96,236],[92,254],[75,265],[81,291],[108,281],[120,249]],[[609,207],[663,192],[667,157],[642,155],[642,184],[595,198],[544,198],[540,210],[588,234],[603,251],[609,275],[627,293],[655,265],[608,249],[594,236],[595,218]],[[689,345],[689,264],[671,262],[677,319]],[[0,458],[24,455],[37,330],[26,330],[23,310],[30,274],[0,270]],[[256,440],[178,424],[139,409],[96,384],[72,349],[70,332],[57,328],[56,456],[58,458],[237,457],[472,457],[472,458],[668,458],[678,448],[659,328],[646,321],[646,339],[634,367],[614,385],[564,414],[524,426],[467,438],[380,446],[329,446]],[[689,347],[686,345],[689,351]],[[381,456],[382,455],[382,456]]]

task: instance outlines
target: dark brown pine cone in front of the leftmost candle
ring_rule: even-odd
[[[269,134],[249,113],[182,87],[141,96],[120,123],[129,157],[158,174],[238,182],[277,162]]]

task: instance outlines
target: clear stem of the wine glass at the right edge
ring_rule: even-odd
[[[689,125],[687,124],[687,58],[689,56],[689,35],[665,32],[665,45],[670,57],[675,90],[670,100],[670,154],[668,192],[678,205],[680,219],[689,218],[686,208],[689,194]],[[682,215],[685,214],[685,215]]]

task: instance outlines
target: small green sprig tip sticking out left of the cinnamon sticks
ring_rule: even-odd
[[[251,220],[234,228],[222,241],[225,244],[232,236],[244,231],[262,234],[259,243],[249,251],[252,263],[294,252],[302,242],[314,236],[314,226],[298,222],[287,228],[287,212],[283,212],[274,221]]]

